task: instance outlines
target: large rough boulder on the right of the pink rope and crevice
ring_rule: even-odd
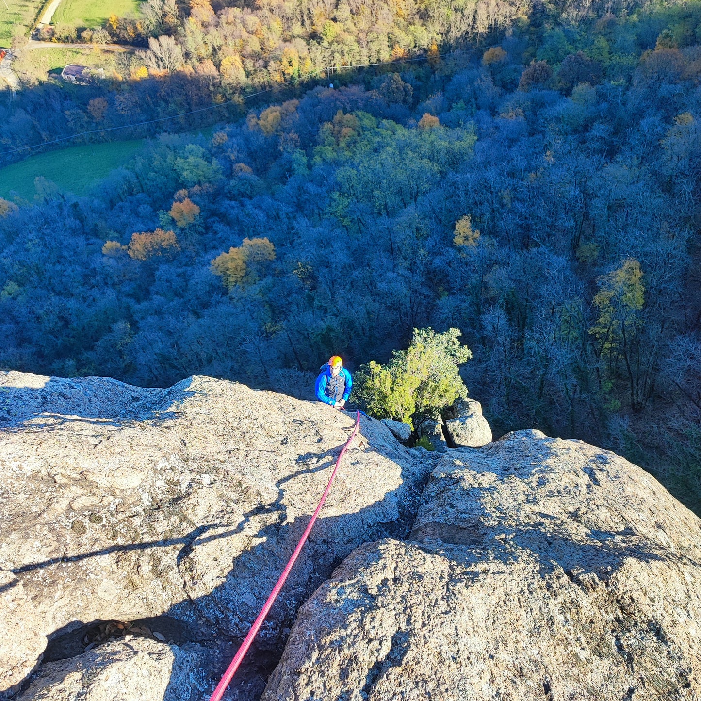
[[[411,540],[302,606],[264,701],[701,698],[700,519],[582,442],[448,455]]]

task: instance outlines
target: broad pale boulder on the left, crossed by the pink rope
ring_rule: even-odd
[[[191,640],[243,637],[355,421],[205,377],[161,390],[16,372],[0,373],[0,412],[0,698],[47,641],[95,622],[167,615]],[[360,543],[407,535],[429,471],[362,417],[261,645],[280,646]]]

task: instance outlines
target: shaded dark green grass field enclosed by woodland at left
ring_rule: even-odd
[[[36,194],[34,179],[40,175],[54,182],[64,193],[85,195],[111,170],[124,165],[143,145],[141,140],[120,141],[72,146],[30,156],[0,169],[0,197],[9,198],[15,191],[20,197],[32,200]]]

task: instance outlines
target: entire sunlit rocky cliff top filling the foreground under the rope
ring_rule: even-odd
[[[0,697],[207,698],[353,423],[205,377],[0,373]],[[364,417],[225,698],[701,698],[700,536],[608,451],[429,453]]]

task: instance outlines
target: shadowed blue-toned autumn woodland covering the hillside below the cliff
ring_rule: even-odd
[[[239,96],[89,198],[0,201],[0,366],[306,397],[332,353],[457,328],[495,435],[615,449],[698,511],[701,8],[454,5],[163,6],[174,63],[4,104],[9,149]]]

